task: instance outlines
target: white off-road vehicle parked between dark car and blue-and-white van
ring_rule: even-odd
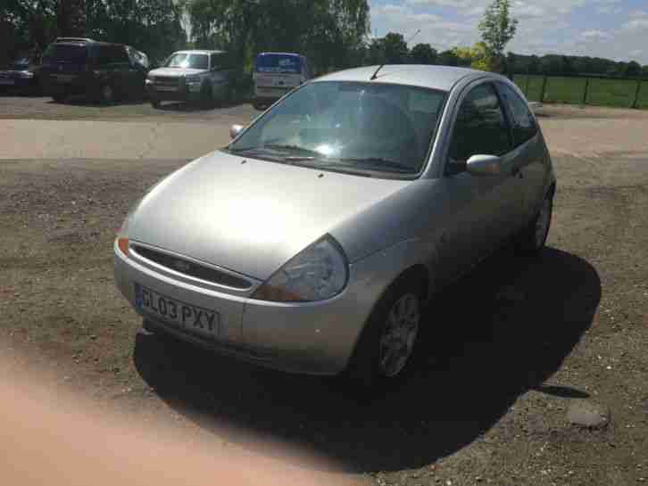
[[[146,91],[155,108],[162,101],[200,101],[211,104],[231,100],[236,87],[236,70],[225,51],[179,51],[161,68],[151,70]]]

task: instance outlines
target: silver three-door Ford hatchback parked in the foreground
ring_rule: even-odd
[[[541,251],[555,176],[507,78],[345,70],[154,185],[114,244],[145,329],[291,372],[403,375],[426,302],[498,246]]]

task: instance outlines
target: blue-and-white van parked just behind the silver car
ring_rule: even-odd
[[[254,108],[262,110],[311,78],[308,60],[301,54],[257,54],[253,67]]]

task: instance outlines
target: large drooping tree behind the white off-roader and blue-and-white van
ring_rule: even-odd
[[[369,32],[367,0],[189,2],[194,44],[228,49],[248,66],[270,50],[305,54],[315,70],[361,62]]]

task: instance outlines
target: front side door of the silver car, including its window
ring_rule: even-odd
[[[511,149],[511,128],[493,84],[469,87],[458,102],[436,202],[444,211],[440,264],[447,266],[445,275],[467,271],[518,225],[521,195]],[[466,162],[472,155],[501,157],[502,173],[469,174]]]

